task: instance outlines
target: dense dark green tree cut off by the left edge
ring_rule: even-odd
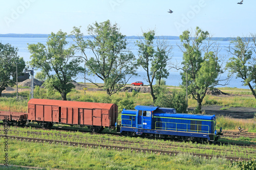
[[[17,47],[0,42],[0,97],[6,87],[13,86],[16,83],[16,63],[18,75],[26,66],[24,59],[19,58],[17,52]]]

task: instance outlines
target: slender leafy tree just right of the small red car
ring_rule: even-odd
[[[160,85],[161,79],[168,77],[169,72],[166,66],[171,59],[170,53],[172,52],[172,46],[169,46],[165,40],[158,39],[156,44],[154,40],[155,31],[150,30],[143,33],[143,37],[137,41],[138,64],[146,71],[146,81],[150,84],[153,102],[157,99],[154,94],[153,81],[159,80]]]

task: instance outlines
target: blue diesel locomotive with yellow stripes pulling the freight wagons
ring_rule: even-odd
[[[181,114],[158,106],[123,109],[120,133],[194,141],[217,141],[221,135],[216,130],[215,115]]]

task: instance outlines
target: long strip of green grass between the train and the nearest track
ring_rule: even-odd
[[[1,128],[3,129],[3,127]],[[222,155],[229,157],[243,157],[251,158],[253,154],[250,148],[239,148],[234,145],[230,146],[218,146],[214,144],[200,144],[194,142],[176,142],[170,140],[159,140],[159,139],[147,139],[140,137],[126,137],[126,136],[113,136],[110,134],[97,135],[90,133],[81,133],[81,132],[66,132],[66,131],[47,131],[47,130],[38,130],[34,128],[17,128],[10,127],[8,129],[8,135],[10,136],[20,136],[20,137],[30,137],[30,138],[40,138],[40,139],[50,139],[50,140],[61,140],[61,141],[72,141],[79,143],[95,143],[103,145],[113,145],[116,147],[132,147],[133,148],[142,148],[142,149],[153,149],[153,150],[165,150],[165,151],[175,151],[182,153],[196,153],[196,154],[210,154],[210,155]],[[125,141],[125,143],[119,143],[116,141]],[[239,143],[251,143],[249,139],[238,139]],[[130,142],[129,142],[130,141]],[[129,143],[127,143],[129,142]],[[254,142],[255,144],[255,142]],[[215,151],[218,149],[219,151]],[[228,153],[226,151],[232,151]],[[236,153],[239,151],[239,153]],[[248,154],[247,154],[248,153]]]

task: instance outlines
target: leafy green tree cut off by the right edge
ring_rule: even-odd
[[[252,40],[252,42],[250,41]],[[254,47],[253,47],[254,45]],[[249,86],[256,99],[256,35],[251,34],[251,38],[237,37],[230,42],[228,52],[233,56],[229,58],[226,68],[231,75],[236,74],[236,78],[243,79],[243,85]],[[253,53],[255,55],[253,56]]]

